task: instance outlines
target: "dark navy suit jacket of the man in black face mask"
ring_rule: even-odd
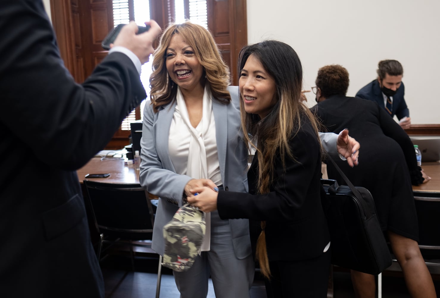
[[[403,83],[400,85],[399,89],[397,89],[396,94],[392,97],[392,114],[400,120],[403,117],[410,116],[410,110],[408,110],[407,103],[405,102],[405,86]],[[362,89],[360,89],[356,96],[358,98],[368,99],[378,103],[379,107],[385,110],[384,98],[382,95],[381,87],[379,86],[378,80],[371,81]]]

